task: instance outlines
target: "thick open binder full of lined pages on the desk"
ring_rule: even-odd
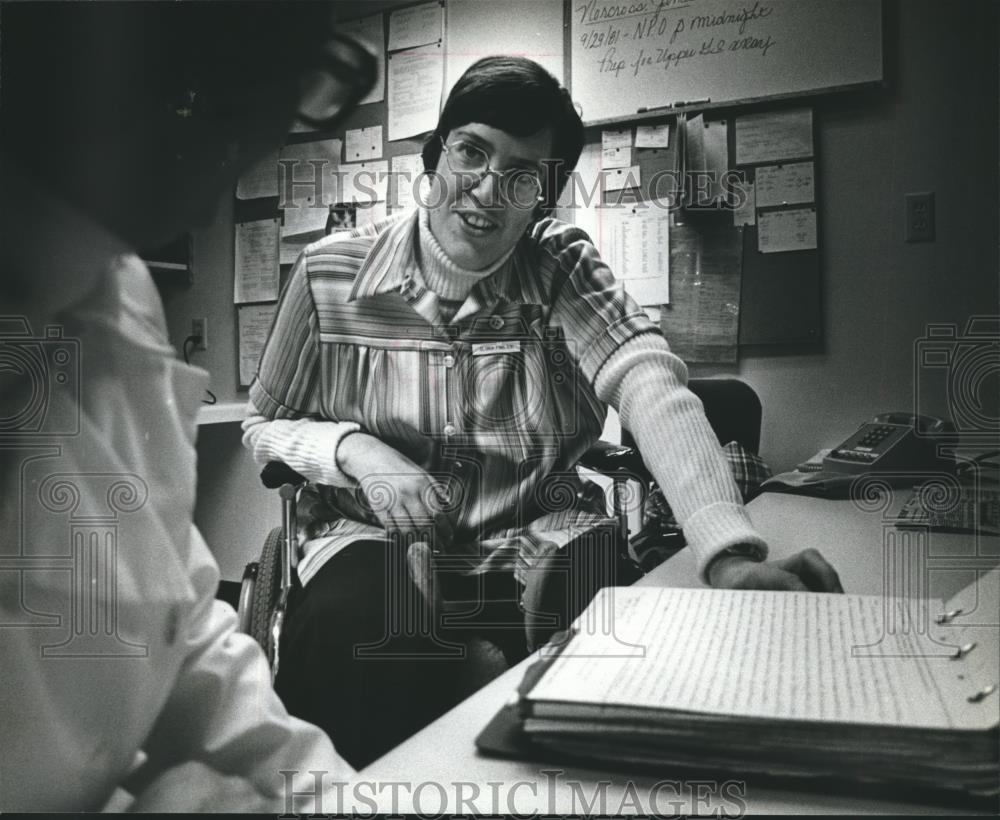
[[[536,748],[664,773],[996,794],[1000,570],[968,573],[946,603],[602,590],[525,675],[519,731]]]

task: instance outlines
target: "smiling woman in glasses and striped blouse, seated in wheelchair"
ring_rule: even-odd
[[[593,567],[614,524],[574,469],[608,405],[706,580],[839,589],[814,552],[764,561],[684,364],[550,216],[583,139],[540,66],[478,61],[424,146],[416,211],[310,245],[282,294],[244,422],[258,461],[310,482],[276,687],[355,766],[450,704],[459,626],[514,659],[613,578]],[[428,619],[446,570],[520,606]]]

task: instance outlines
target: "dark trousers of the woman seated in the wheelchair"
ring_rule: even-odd
[[[514,663],[527,654],[526,627],[535,648],[600,586],[625,583],[595,571],[605,548],[585,537],[568,544],[529,573],[523,606],[509,573],[443,583],[446,599],[500,603],[472,601],[432,620],[401,547],[351,544],[292,591],[275,688],[289,712],[324,729],[362,768],[455,705],[464,638],[485,637]]]

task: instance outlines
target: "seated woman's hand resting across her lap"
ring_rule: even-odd
[[[340,469],[355,479],[368,506],[390,533],[404,541],[446,548],[452,539],[448,491],[398,450],[367,433],[345,436],[337,448]]]

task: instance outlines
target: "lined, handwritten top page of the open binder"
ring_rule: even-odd
[[[935,682],[954,677],[961,662],[925,628],[934,610],[860,595],[605,589],[530,699],[924,728],[995,725],[989,710],[970,713],[964,698]],[[628,657],[636,652],[630,645],[643,656]]]

